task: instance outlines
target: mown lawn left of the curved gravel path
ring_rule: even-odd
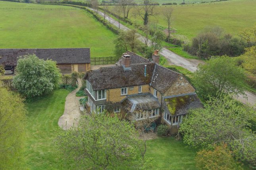
[[[28,102],[27,141],[24,157],[31,170],[60,169],[60,160],[54,151],[55,129],[64,112],[65,97],[69,91],[58,89],[48,96]]]

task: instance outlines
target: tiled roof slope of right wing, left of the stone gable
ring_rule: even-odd
[[[156,64],[150,85],[161,93],[165,93],[180,75],[180,73]]]

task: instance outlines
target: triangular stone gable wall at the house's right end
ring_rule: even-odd
[[[173,85],[166,91],[164,96],[172,96],[177,94],[193,93],[194,87],[183,76],[179,76]]]

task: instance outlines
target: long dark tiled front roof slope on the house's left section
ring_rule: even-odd
[[[144,65],[147,65],[146,77],[144,76]],[[93,90],[145,85],[151,81],[154,65],[152,62],[131,64],[130,70],[125,70],[123,66],[102,67],[98,70],[88,71],[85,77],[89,76]]]

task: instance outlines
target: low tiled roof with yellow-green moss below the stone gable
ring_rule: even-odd
[[[203,105],[195,93],[177,97],[164,97],[163,108],[171,115],[185,115],[190,109],[202,108]]]

